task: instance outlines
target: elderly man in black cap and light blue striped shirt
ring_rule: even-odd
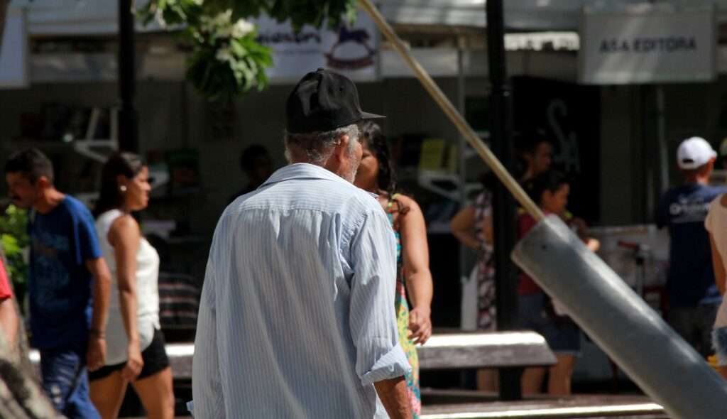
[[[319,69],[293,89],[286,117],[291,164],[217,223],[193,415],[410,418],[394,236],[376,199],[352,185],[357,123],[380,116],[361,111],[349,79]]]

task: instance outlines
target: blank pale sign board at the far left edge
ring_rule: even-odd
[[[0,89],[28,87],[25,10],[8,7],[0,45]]]

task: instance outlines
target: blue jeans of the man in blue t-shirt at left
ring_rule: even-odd
[[[89,397],[86,346],[41,349],[43,390],[53,407],[68,418],[100,419]]]

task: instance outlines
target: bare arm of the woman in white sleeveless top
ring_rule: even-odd
[[[131,215],[123,215],[111,225],[108,239],[116,258],[116,282],[119,285],[121,319],[124,321],[126,336],[129,338],[129,346],[126,348],[128,358],[121,375],[125,380],[133,380],[139,375],[144,364],[137,331],[136,258],[141,243],[139,224]]]

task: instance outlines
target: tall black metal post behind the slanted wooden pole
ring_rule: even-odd
[[[490,138],[491,148],[502,165],[513,166],[512,95],[507,83],[505,65],[505,22],[502,0],[488,0],[487,47],[491,84]],[[495,290],[497,293],[497,329],[513,330],[518,317],[518,293],[515,269],[510,252],[515,246],[515,201],[502,184],[493,191],[493,224],[495,248]],[[519,374],[500,370],[500,399],[521,399]]]

